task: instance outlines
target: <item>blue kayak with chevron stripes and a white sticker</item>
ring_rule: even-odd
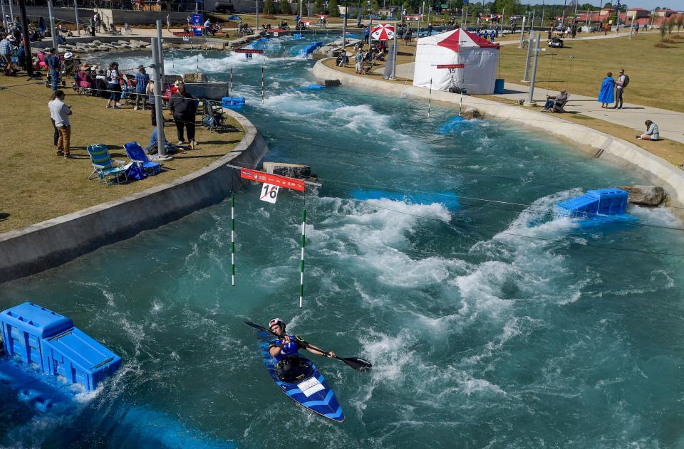
[[[272,339],[271,334],[259,332],[259,348],[264,356],[264,365],[266,365],[266,371],[269,371],[271,379],[276,385],[300,406],[338,423],[343,422],[344,412],[335,397],[335,393],[311,360],[300,357],[302,374],[305,374],[301,380],[291,383],[281,381],[278,378],[276,359],[269,354],[269,343]]]

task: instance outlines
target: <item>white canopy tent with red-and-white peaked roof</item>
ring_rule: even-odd
[[[459,65],[459,68],[437,68],[437,65]],[[458,28],[418,39],[413,85],[449,90],[455,84],[470,94],[492,94],[498,65],[498,43]]]

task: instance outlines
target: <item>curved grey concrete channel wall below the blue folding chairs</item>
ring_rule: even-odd
[[[226,112],[244,127],[244,139],[207,167],[122,199],[0,234],[0,282],[40,273],[101,246],[157,228],[217,204],[239,189],[239,173],[226,164],[253,167],[269,148],[247,118]]]

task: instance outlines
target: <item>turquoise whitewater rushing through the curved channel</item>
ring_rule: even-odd
[[[323,186],[281,191],[274,205],[258,201],[257,185],[237,192],[236,287],[227,201],[4,284],[0,307],[28,298],[56,310],[124,363],[97,393],[49,409],[0,382],[0,445],[684,445],[681,258],[598,248],[681,252],[681,231],[663,228],[680,227],[673,210],[630,208],[655,226],[580,226],[553,213],[584,189],[643,179],[509,122],[440,134],[453,110],[432,105],[427,118],[425,102],[295,90],[311,83],[313,63],[286,57],[283,68],[281,43],[302,45],[276,40],[272,58],[207,53],[199,64],[217,80],[232,67],[244,115],[269,140],[266,159],[311,164]],[[175,52],[170,71],[197,60]],[[460,207],[354,201],[360,186],[456,194]],[[312,416],[271,383],[242,321],[275,316],[373,362],[365,374],[314,359],[345,423]]]

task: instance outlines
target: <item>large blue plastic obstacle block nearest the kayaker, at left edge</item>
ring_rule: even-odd
[[[9,356],[86,390],[97,388],[121,366],[120,356],[74,327],[71,319],[33,302],[1,312],[0,324]]]

